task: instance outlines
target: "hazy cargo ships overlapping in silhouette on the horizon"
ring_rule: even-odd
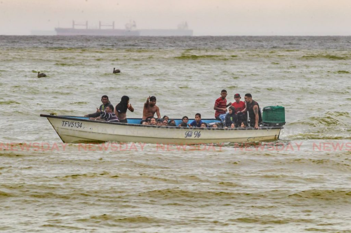
[[[85,26],[85,28],[75,28]],[[102,27],[112,27],[102,28]],[[188,29],[187,22],[182,22],[177,29],[137,29],[135,21],[126,23],[125,29],[115,29],[112,25],[103,25],[99,22],[99,28],[88,28],[88,21],[85,24],[78,24],[73,21],[72,28],[55,28],[57,35],[93,35],[93,36],[192,36],[193,30]]]

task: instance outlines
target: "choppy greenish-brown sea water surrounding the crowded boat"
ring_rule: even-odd
[[[351,232],[350,73],[345,36],[0,36],[0,231]],[[280,139],[64,144],[39,116],[213,118],[222,89],[284,106]]]

